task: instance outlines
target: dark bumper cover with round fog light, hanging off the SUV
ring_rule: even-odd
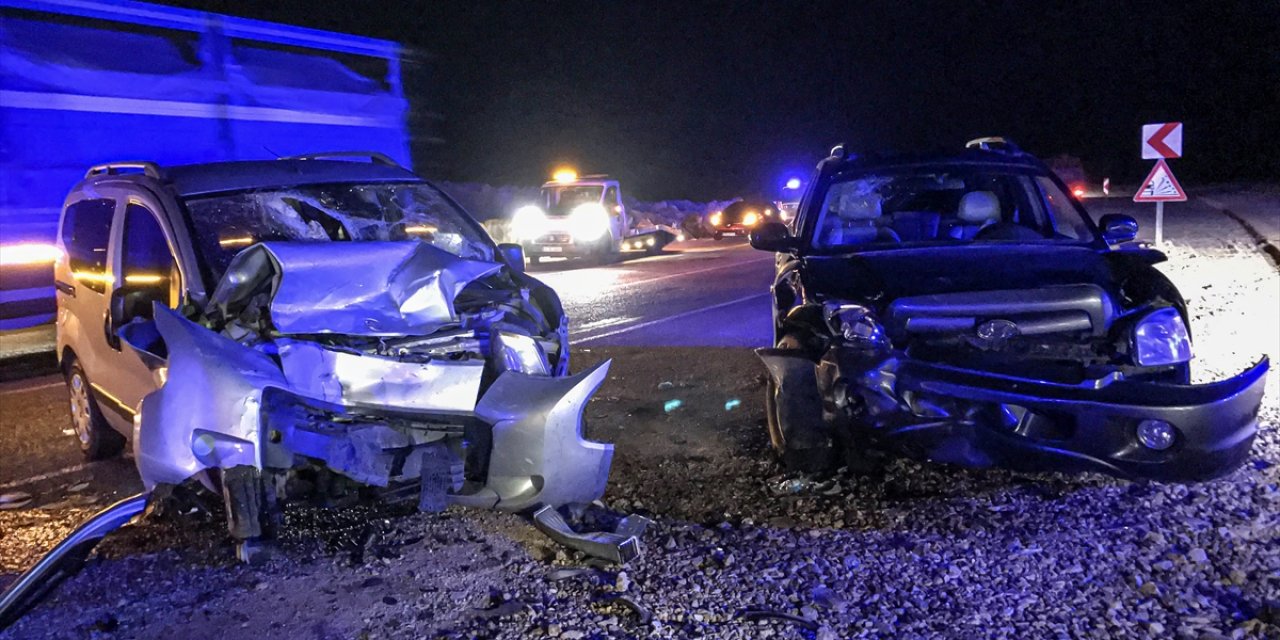
[[[901,361],[910,420],[877,421],[876,439],[973,466],[1208,480],[1248,458],[1267,367],[1199,385],[1068,385]]]

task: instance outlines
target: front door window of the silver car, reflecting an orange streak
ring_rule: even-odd
[[[164,229],[148,209],[131,202],[124,209],[123,260],[125,315],[151,317],[151,302],[177,308],[182,279]]]

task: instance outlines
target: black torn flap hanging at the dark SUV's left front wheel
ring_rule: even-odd
[[[755,355],[777,387],[774,407],[786,444],[783,458],[828,457],[832,439],[822,417],[817,365],[800,349],[755,349]]]

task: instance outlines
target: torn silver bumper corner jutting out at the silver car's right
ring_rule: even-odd
[[[493,425],[486,489],[498,508],[591,502],[604,494],[613,445],[582,438],[582,411],[609,362],[568,378],[507,371],[480,398],[476,416]]]

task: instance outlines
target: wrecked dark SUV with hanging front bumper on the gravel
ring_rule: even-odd
[[[780,253],[769,436],[792,468],[896,452],[968,466],[1189,481],[1249,454],[1267,361],[1189,384],[1187,305],[1002,138],[818,165]]]

